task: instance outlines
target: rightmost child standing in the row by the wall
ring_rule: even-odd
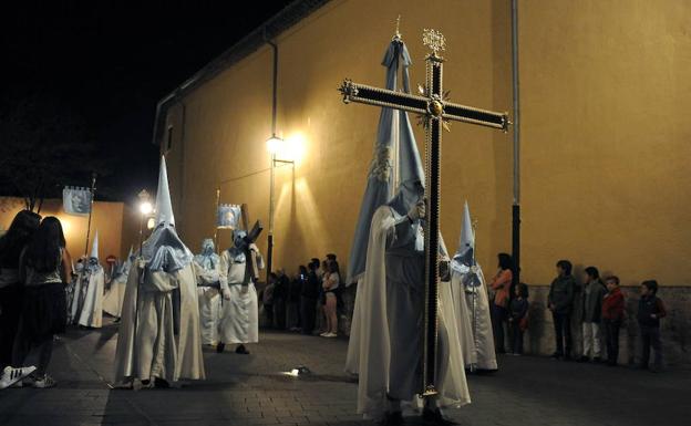
[[[658,281],[648,280],[641,283],[641,298],[638,302],[638,325],[641,333],[643,353],[641,368],[648,370],[650,347],[656,351],[656,359],[651,372],[662,370],[662,344],[660,342],[660,319],[667,316],[662,300],[657,297]]]

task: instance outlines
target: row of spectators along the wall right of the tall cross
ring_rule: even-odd
[[[554,323],[555,352],[551,357],[564,361],[605,362],[616,366],[619,360],[619,331],[625,321],[625,294],[617,276],[604,280],[596,267],[584,270],[584,283],[579,285],[568,260],[556,263],[556,278],[549,285],[547,309]],[[498,254],[498,269],[488,283],[493,292],[491,313],[495,349],[497,353],[523,354],[523,333],[528,329],[528,287],[515,282],[515,266],[507,253]],[[637,321],[640,331],[642,352],[640,367],[659,372],[662,368],[662,343],[660,319],[667,315],[662,300],[657,297],[658,282],[646,280],[640,287]],[[581,333],[580,354],[574,351],[571,325],[578,313]],[[505,347],[504,328],[508,330],[510,347]],[[605,342],[602,351],[601,342]],[[654,360],[650,365],[650,349]]]

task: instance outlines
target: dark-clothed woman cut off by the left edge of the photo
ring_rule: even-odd
[[[0,371],[12,364],[12,344],[21,313],[19,256],[39,228],[41,216],[22,210],[0,238]]]

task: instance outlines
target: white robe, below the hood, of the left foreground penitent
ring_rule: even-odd
[[[122,323],[115,350],[115,383],[132,378],[168,382],[205,378],[197,285],[192,264],[175,273],[146,272],[135,260],[127,278]],[[138,266],[138,267],[137,267]],[[179,289],[179,322],[175,335],[173,291]]]

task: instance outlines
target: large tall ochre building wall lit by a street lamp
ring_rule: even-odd
[[[343,105],[343,77],[383,84],[383,52],[402,15],[413,83],[424,80],[423,28],[447,41],[455,102],[509,111],[507,1],[333,1],[278,39],[278,131],[299,135],[295,172],[277,172],[275,266],[327,251],[346,263],[379,111]],[[523,280],[548,283],[569,258],[619,274],[689,284],[688,70],[682,1],[520,2]],[[183,238],[214,233],[215,190],[268,224],[271,53],[264,48],[169,110],[167,154]],[[415,128],[420,143],[423,133]],[[510,249],[512,135],[454,124],[444,135],[442,231],[451,250],[464,199],[492,271]],[[422,148],[422,146],[421,146]],[[227,231],[220,231],[227,247]],[[259,245],[266,250],[266,239]],[[586,264],[587,263],[587,264]]]

